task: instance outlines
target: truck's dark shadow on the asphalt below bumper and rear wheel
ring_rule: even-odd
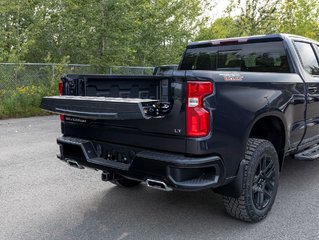
[[[114,186],[97,202],[83,203],[87,209],[81,224],[63,235],[76,239],[207,239],[208,236],[250,239],[253,231],[256,238],[271,239],[276,232],[268,231],[264,226],[285,218],[277,212],[283,207],[278,204],[286,204],[286,197],[314,184],[311,176],[318,170],[319,161],[304,163],[287,159],[276,210],[273,209],[259,224],[230,218],[224,211],[222,197],[210,190],[162,192],[145,186],[133,189]],[[293,203],[288,207],[292,206]],[[255,232],[259,230],[262,231]]]

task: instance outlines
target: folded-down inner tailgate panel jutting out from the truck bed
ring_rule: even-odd
[[[104,120],[150,119],[159,116],[159,100],[87,96],[43,97],[43,110],[72,117]]]

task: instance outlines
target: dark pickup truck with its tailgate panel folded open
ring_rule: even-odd
[[[284,159],[319,158],[319,43],[274,34],[190,43],[162,76],[65,75],[58,158],[123,187],[213,189],[258,222]]]

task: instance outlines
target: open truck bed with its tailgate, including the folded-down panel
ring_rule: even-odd
[[[64,114],[65,136],[185,152],[184,78],[65,75],[41,107]]]

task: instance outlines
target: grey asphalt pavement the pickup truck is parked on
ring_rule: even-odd
[[[57,116],[0,121],[0,239],[319,239],[319,161],[286,159],[264,221],[229,217],[210,190],[123,189],[56,158]]]

